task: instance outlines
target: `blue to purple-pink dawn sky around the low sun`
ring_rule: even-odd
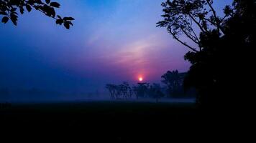
[[[156,27],[163,0],[58,2],[58,14],[76,19],[70,30],[35,10],[19,16],[18,26],[0,24],[0,89],[95,92],[107,83],[160,83],[168,70],[188,71],[188,49]]]

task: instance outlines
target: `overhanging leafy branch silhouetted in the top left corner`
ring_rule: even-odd
[[[25,9],[27,9],[28,12],[35,9],[55,19],[56,24],[63,24],[66,29],[70,29],[70,25],[73,26],[72,21],[75,19],[73,19],[73,17],[62,18],[56,15],[56,8],[60,8],[60,4],[54,1],[51,2],[50,0],[0,0],[0,16],[3,16],[1,22],[6,24],[10,19],[12,23],[17,26],[18,11],[20,14],[24,14]]]

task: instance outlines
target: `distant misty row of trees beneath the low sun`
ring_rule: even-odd
[[[152,98],[158,101],[163,97],[189,97],[192,92],[186,93],[183,90],[183,79],[186,73],[167,71],[162,76],[161,86],[157,83],[139,82],[137,85],[129,85],[128,82],[122,84],[106,84],[111,99],[141,99]],[[193,96],[193,95],[192,95]]]

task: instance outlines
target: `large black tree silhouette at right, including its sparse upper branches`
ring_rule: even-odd
[[[174,39],[191,49],[185,55],[192,64],[185,87],[197,89],[198,104],[214,107],[233,99],[234,88],[244,89],[241,83],[246,81],[239,75],[245,73],[237,71],[237,67],[250,69],[255,47],[256,2],[234,0],[232,6],[225,7],[223,17],[217,16],[212,4],[213,0],[168,0],[162,4],[164,19],[157,26],[166,27]],[[196,33],[196,29],[200,32]],[[180,35],[197,47],[183,41]]]

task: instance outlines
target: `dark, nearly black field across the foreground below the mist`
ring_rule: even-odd
[[[28,135],[28,130],[37,135],[43,132],[45,137],[48,137],[45,134],[54,137],[61,134],[62,139],[81,134],[79,137],[94,142],[166,142],[177,137],[176,134],[216,136],[224,132],[222,128],[234,127],[232,121],[224,117],[204,113],[195,104],[188,103],[14,104],[0,109],[0,125],[1,130],[10,130],[12,134]],[[237,127],[238,124],[234,129]],[[210,134],[214,129],[219,131]]]

